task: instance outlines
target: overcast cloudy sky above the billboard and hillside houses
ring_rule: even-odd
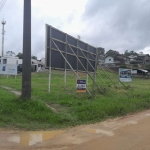
[[[0,12],[7,22],[5,52],[22,52],[23,1],[7,0]],[[39,59],[45,57],[46,23],[106,51],[150,54],[150,0],[31,1],[32,55]]]

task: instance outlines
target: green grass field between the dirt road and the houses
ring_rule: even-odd
[[[102,93],[95,87],[92,105],[88,93],[76,93],[76,77],[69,72],[66,89],[63,72],[52,72],[50,93],[48,93],[48,72],[32,74],[30,100],[21,100],[10,91],[0,88],[0,127],[27,130],[65,128],[150,108],[149,79],[133,78],[132,86],[129,87],[129,83],[126,83],[128,88],[124,88],[119,85],[112,73],[107,72],[118,86],[115,88],[101,70],[99,74],[107,86],[97,77],[97,83],[105,92]],[[79,76],[86,79],[83,73]],[[21,76],[17,76],[17,79],[1,76],[0,85],[21,91]],[[88,88],[92,91],[90,79]]]

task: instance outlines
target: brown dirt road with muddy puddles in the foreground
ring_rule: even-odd
[[[150,110],[47,132],[0,129],[0,150],[150,150]]]

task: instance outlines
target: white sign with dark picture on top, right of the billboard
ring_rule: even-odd
[[[132,82],[132,69],[119,68],[119,79],[121,82]]]

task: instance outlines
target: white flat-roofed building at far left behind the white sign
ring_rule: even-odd
[[[22,59],[19,59],[18,57],[13,57],[13,56],[1,57],[0,64],[19,65],[19,64],[22,64]]]

